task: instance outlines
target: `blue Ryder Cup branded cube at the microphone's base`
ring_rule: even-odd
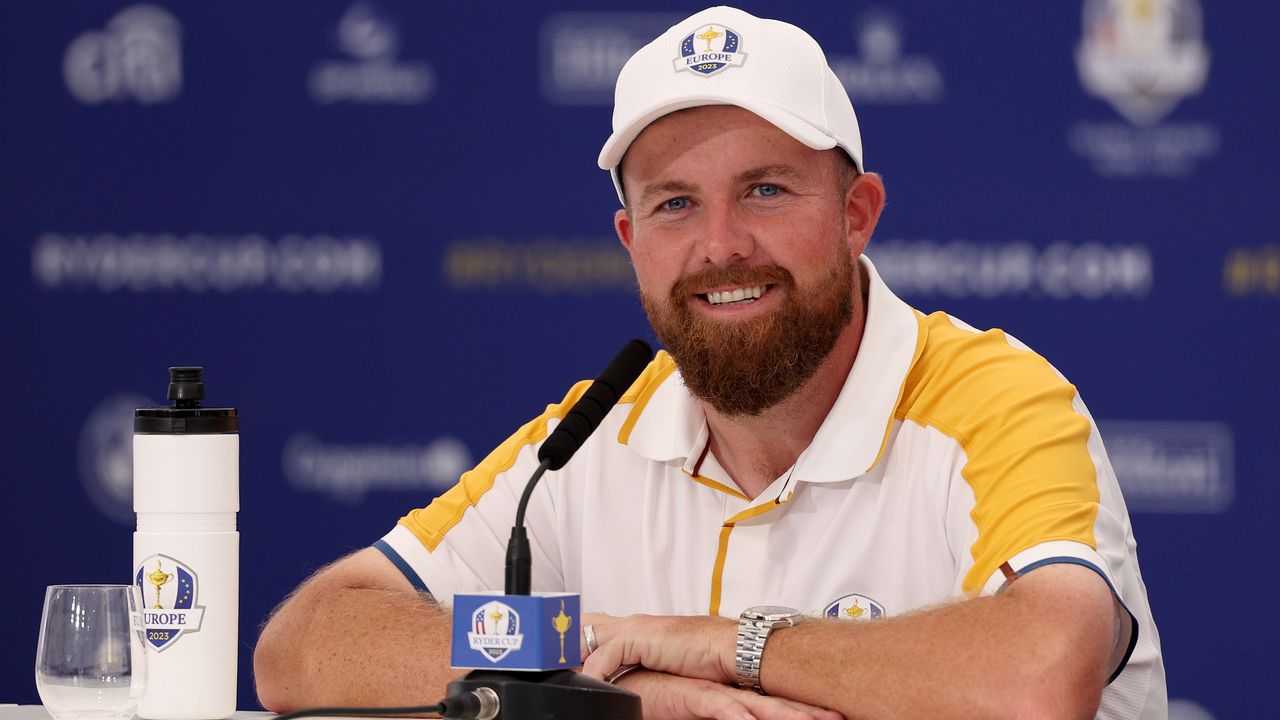
[[[453,652],[458,670],[562,670],[581,665],[579,596],[456,594]]]

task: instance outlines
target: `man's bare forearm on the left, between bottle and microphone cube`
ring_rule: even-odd
[[[458,675],[449,618],[411,589],[308,582],[268,623],[253,653],[260,702],[278,712],[321,705],[430,705]]]

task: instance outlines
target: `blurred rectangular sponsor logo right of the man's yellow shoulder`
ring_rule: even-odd
[[[1133,512],[1224,512],[1235,496],[1235,442],[1221,423],[1100,421]]]

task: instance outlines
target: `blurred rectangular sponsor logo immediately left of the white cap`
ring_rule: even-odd
[[[556,13],[539,33],[539,81],[552,105],[612,105],[631,55],[680,22],[666,13]]]

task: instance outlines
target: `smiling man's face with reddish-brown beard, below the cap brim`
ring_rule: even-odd
[[[616,225],[641,302],[690,391],[724,415],[794,393],[860,311],[854,259],[883,191],[842,182],[833,152],[735,106],[667,115],[627,151]]]

